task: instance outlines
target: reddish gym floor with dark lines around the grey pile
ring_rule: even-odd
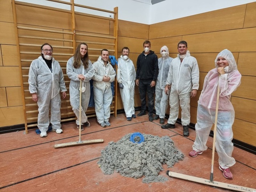
[[[138,114],[138,112],[136,112]],[[148,121],[148,115],[127,121],[124,114],[110,117],[111,126],[102,128],[96,119],[90,119],[91,127],[85,128],[81,140],[104,139],[103,143],[54,148],[55,144],[78,141],[79,132],[74,123],[62,125],[64,133],[48,132],[46,138],[40,138],[35,129],[28,134],[23,131],[0,135],[0,191],[4,192],[41,192],[41,191],[87,191],[87,192],[164,192],[164,191],[229,191],[187,180],[171,178],[166,171],[210,179],[212,138],[209,147],[202,155],[190,157],[195,140],[195,131],[190,129],[190,136],[182,135],[183,129],[176,124],[175,129],[161,129],[159,120]],[[165,119],[165,123],[167,120]],[[101,150],[110,141],[118,141],[124,135],[141,132],[158,136],[169,136],[185,158],[183,161],[160,172],[168,178],[164,183],[142,183],[142,178],[133,179],[119,173],[104,175],[98,167]],[[234,148],[236,164],[231,167],[233,180],[225,179],[218,168],[218,155],[215,153],[214,181],[256,188],[255,155],[239,148]]]

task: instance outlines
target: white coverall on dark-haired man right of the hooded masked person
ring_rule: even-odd
[[[171,86],[169,124],[175,124],[179,115],[179,102],[181,108],[181,124],[190,123],[190,94],[192,89],[198,90],[199,69],[195,57],[187,51],[182,63],[180,58],[172,60],[166,84]]]

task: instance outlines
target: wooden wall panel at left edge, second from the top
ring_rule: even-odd
[[[0,44],[16,44],[13,23],[0,22]]]

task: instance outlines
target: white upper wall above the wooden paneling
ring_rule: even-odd
[[[32,4],[41,4],[70,10],[69,5],[63,5],[46,0],[19,0]],[[70,2],[69,0],[62,0]],[[76,4],[113,11],[118,7],[118,19],[143,24],[154,24],[167,20],[195,15],[198,13],[232,7],[240,4],[255,2],[254,0],[165,0],[151,5],[149,0],[75,0]],[[112,14],[76,8],[75,11],[86,12],[109,17]],[[225,12],[223,13],[225,17]]]

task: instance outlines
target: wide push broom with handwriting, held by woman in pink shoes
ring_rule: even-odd
[[[218,86],[218,89],[217,89],[217,102],[216,102],[216,110],[215,110],[215,122],[214,122],[214,128],[213,128],[212,167],[211,167],[210,180],[206,180],[206,179],[203,179],[203,178],[200,178],[200,177],[185,175],[185,174],[181,174],[181,173],[175,173],[175,172],[171,172],[169,170],[166,172],[166,174],[170,177],[175,177],[175,178],[179,178],[179,179],[184,179],[184,180],[188,180],[188,181],[202,183],[202,184],[205,184],[205,185],[211,185],[211,186],[214,186],[214,187],[220,187],[220,188],[225,188],[225,189],[230,189],[230,190],[235,190],[235,191],[256,192],[256,189],[253,189],[253,188],[242,187],[242,186],[233,185],[233,184],[229,184],[229,183],[222,183],[222,182],[218,182],[218,181],[213,181],[213,163],[214,163],[217,117],[218,117],[219,98],[220,98],[219,84],[217,86]]]

